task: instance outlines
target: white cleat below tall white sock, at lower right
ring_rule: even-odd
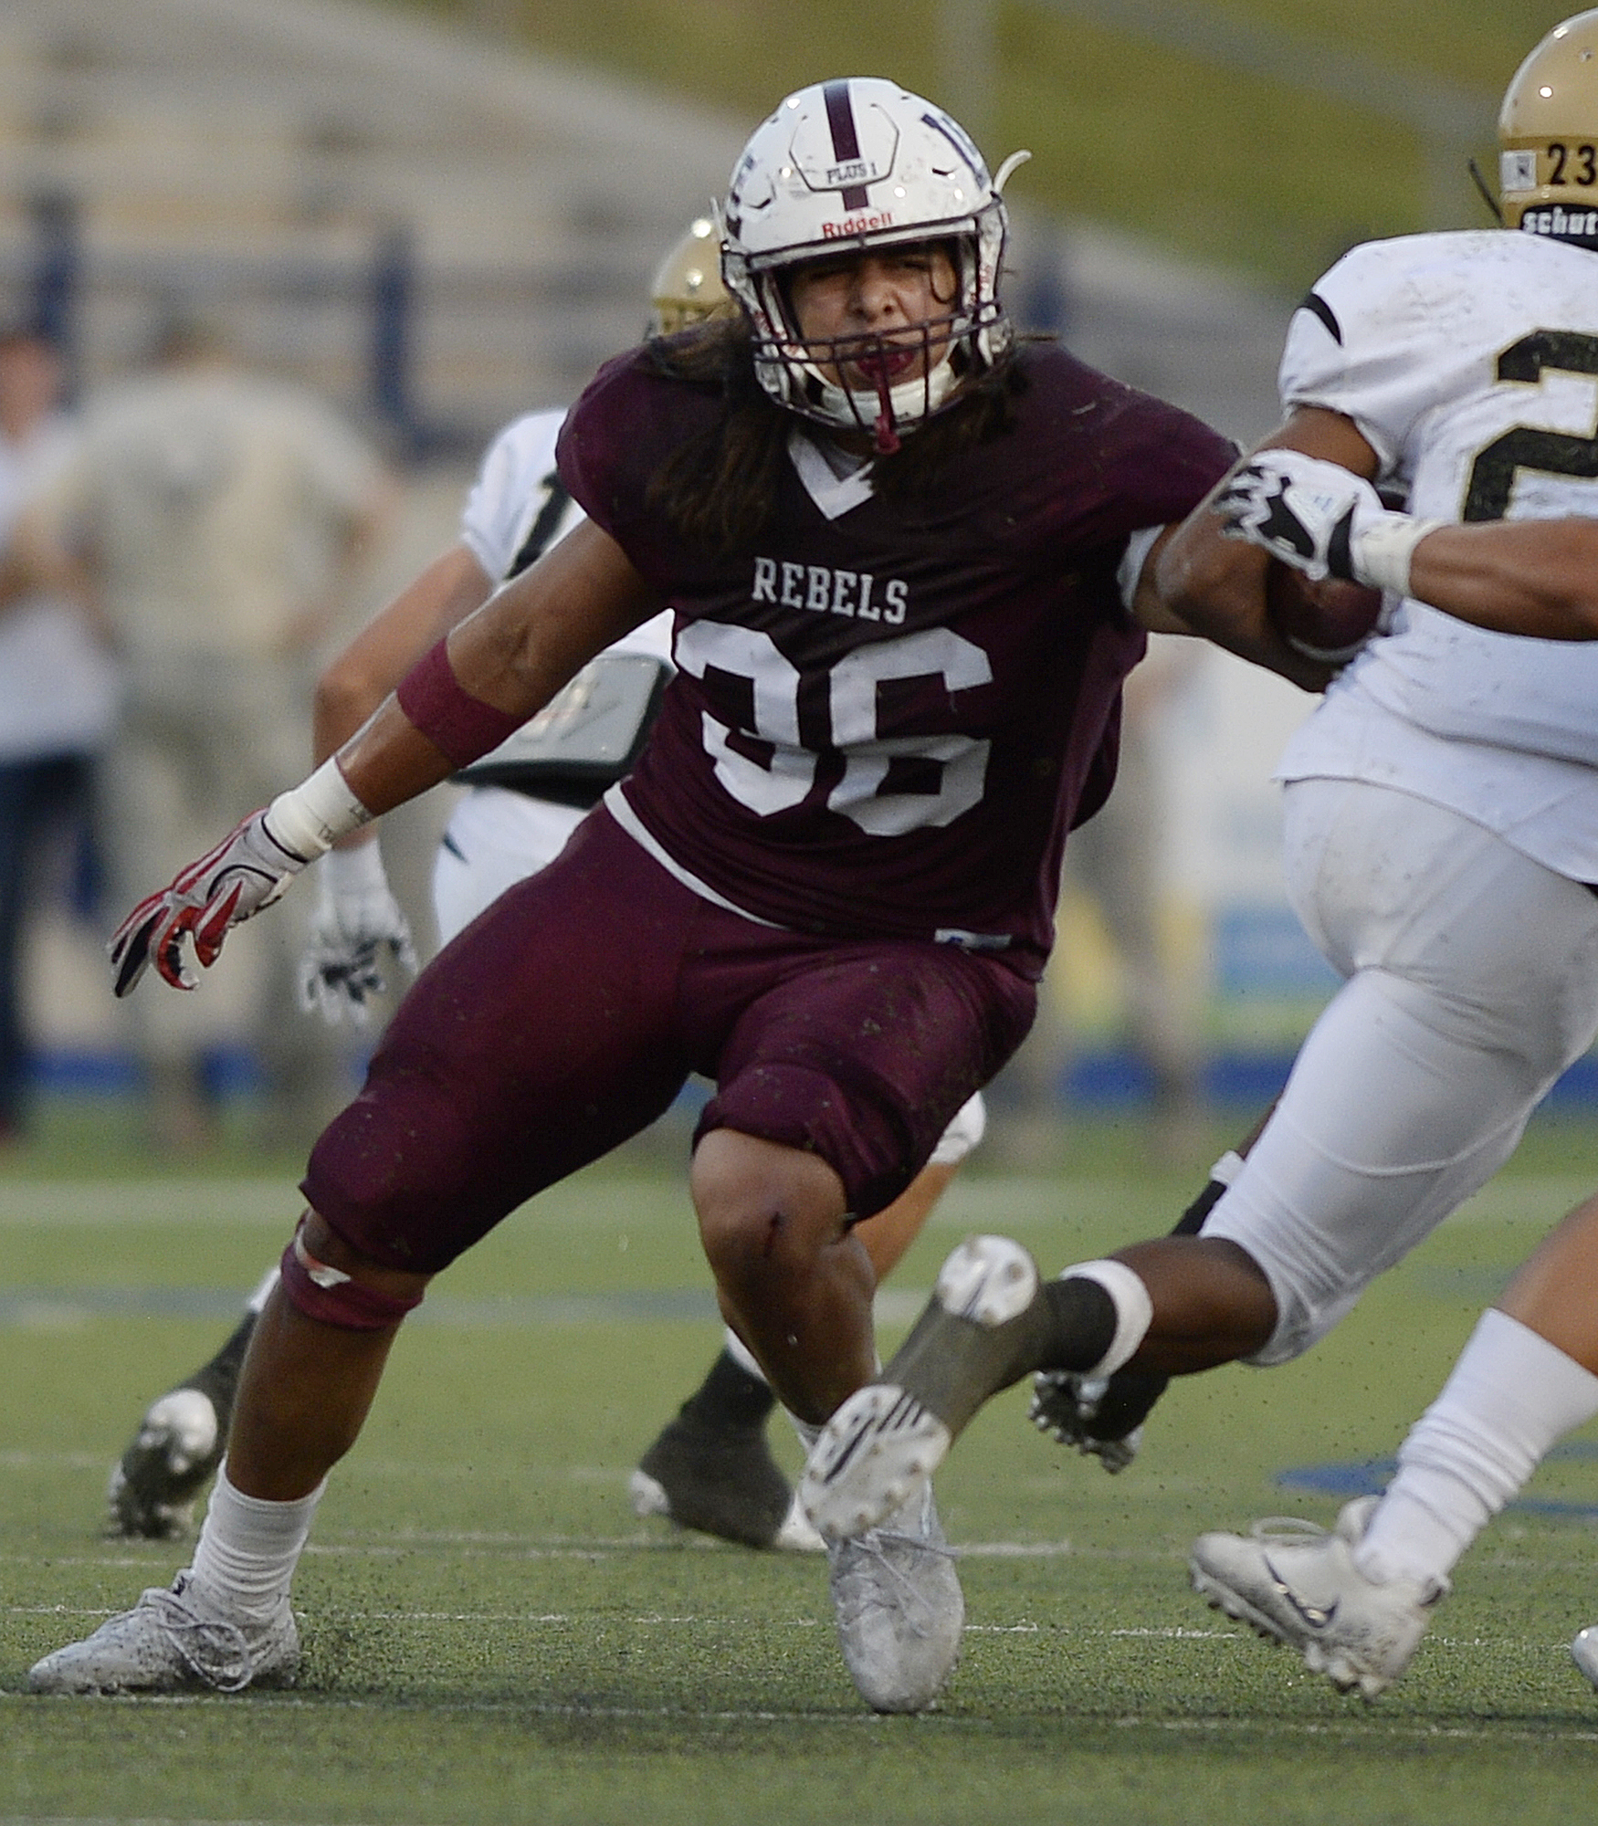
[[[1348,1503],[1333,1530],[1273,1516],[1247,1536],[1204,1534],[1189,1559],[1193,1589],[1213,1609],[1297,1649],[1340,1693],[1359,1687],[1373,1700],[1410,1665],[1430,1607],[1450,1589],[1446,1579],[1377,1583],[1355,1567],[1353,1547],[1377,1501]]]

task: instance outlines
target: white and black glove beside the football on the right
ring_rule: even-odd
[[[1256,451],[1214,498],[1222,531],[1247,539],[1317,582],[1340,577],[1410,593],[1410,557],[1441,526],[1392,513],[1381,495],[1335,462],[1302,451]]]

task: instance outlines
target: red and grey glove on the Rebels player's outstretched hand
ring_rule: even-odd
[[[197,988],[199,979],[183,962],[183,935],[192,933],[194,955],[210,970],[228,931],[268,908],[309,860],[272,834],[265,811],[250,813],[117,928],[108,946],[117,995],[126,995],[152,960],[172,988]]]

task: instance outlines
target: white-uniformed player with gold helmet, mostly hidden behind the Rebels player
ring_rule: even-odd
[[[650,336],[676,336],[738,307],[721,285],[720,228],[696,217],[656,270],[650,285]],[[321,672],[316,690],[316,758],[325,760],[352,736],[416,659],[480,608],[497,582],[515,577],[544,548],[583,519],[555,473],[555,436],[564,413],[526,413],[495,436],[466,502],[460,535]],[[601,654],[550,705],[542,718],[468,769],[468,798],[451,814],[433,869],[433,911],[447,942],[515,880],[553,860],[608,785],[628,771],[652,716],[652,692],[639,676],[656,676],[656,657],[670,645],[663,612],[623,639],[617,670]],[[663,632],[665,624],[665,632]],[[1174,643],[1172,643],[1174,645]],[[603,740],[584,745],[586,703]],[[636,725],[619,718],[632,707]],[[1125,765],[1123,765],[1125,772]],[[415,975],[409,926],[389,893],[376,844],[365,829],[321,860],[318,911],[301,959],[301,1006],[329,1021],[363,1024],[367,997],[393,968]],[[981,1092],[951,1119],[926,1167],[857,1234],[877,1278],[891,1273],[959,1161],[981,1141],[986,1110]],[[111,1468],[106,1492],[108,1532],[183,1539],[199,1497],[226,1452],[234,1390],[256,1317],[278,1284],[256,1286],[243,1317],[221,1348],[181,1382],[155,1397]],[[820,1552],[822,1537],[804,1519],[767,1444],[776,1397],[743,1342],[723,1328],[723,1348],[709,1375],[650,1441],[628,1481],[639,1516],[665,1516],[745,1547]]]

